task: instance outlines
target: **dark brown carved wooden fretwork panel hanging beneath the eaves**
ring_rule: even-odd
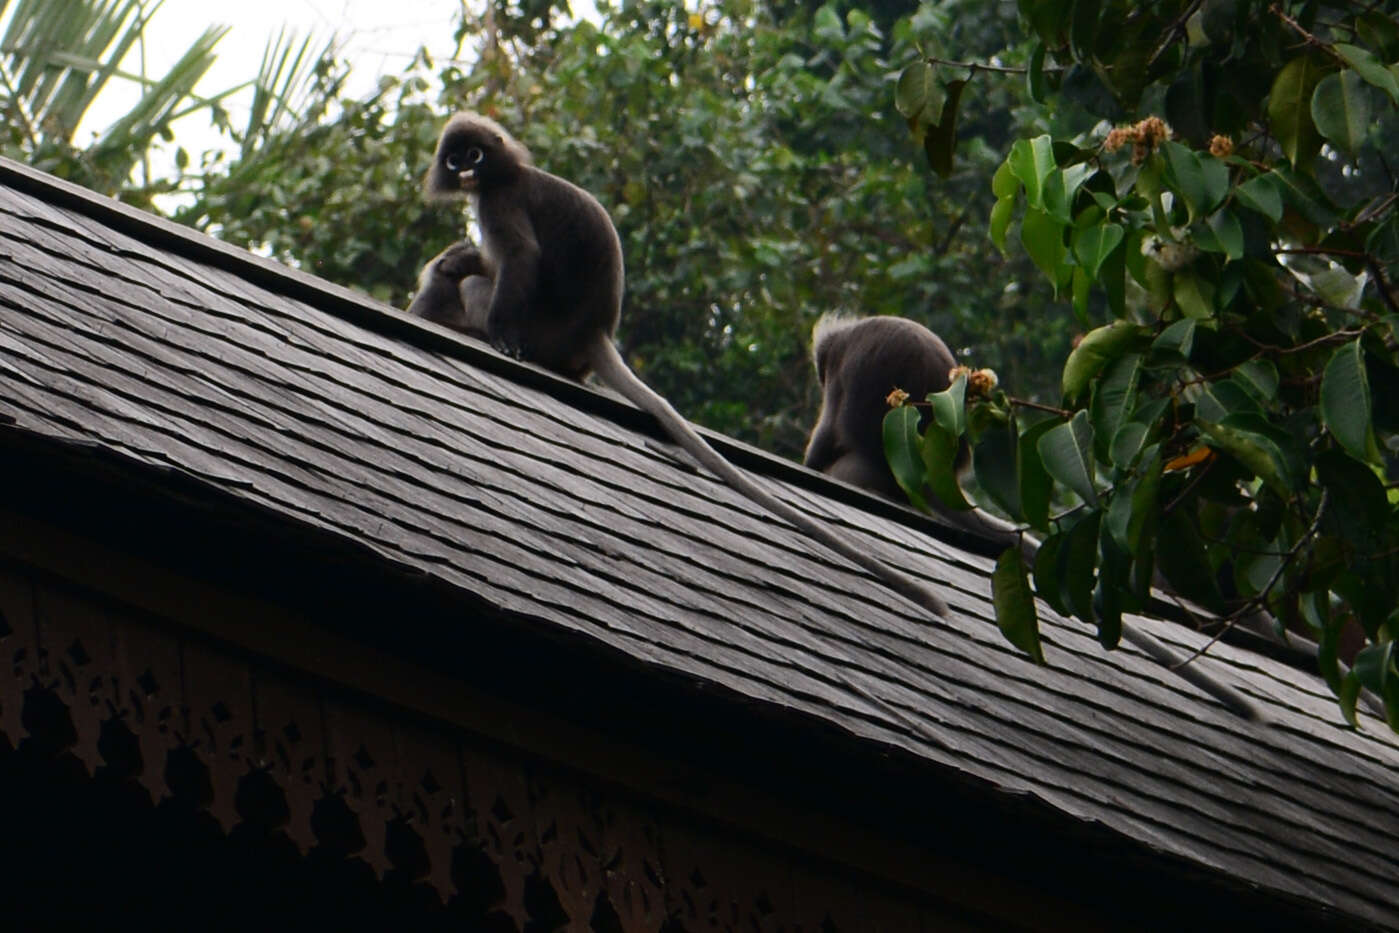
[[[0,571],[0,741],[106,769],[225,832],[360,859],[435,891],[462,929],[919,929],[914,904],[15,571]]]

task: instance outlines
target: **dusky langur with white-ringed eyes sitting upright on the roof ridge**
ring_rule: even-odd
[[[446,271],[462,271],[459,281],[480,271],[492,288],[481,320],[480,308],[463,304],[460,290],[443,284],[450,276],[435,269],[452,253],[449,248],[424,270],[413,313],[460,320],[463,329],[480,327],[501,351],[572,379],[596,373],[606,386],[655,415],[676,443],[736,491],[870,571],[912,603],[936,615],[947,614],[947,604],[929,586],[758,488],[631,372],[611,340],[621,316],[621,242],[592,194],[534,168],[523,145],[476,113],[448,120],[424,189],[431,200],[473,200],[481,249],[473,256],[463,246],[463,255],[452,257]]]

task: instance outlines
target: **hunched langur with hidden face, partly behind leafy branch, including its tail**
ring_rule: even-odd
[[[947,344],[928,327],[904,318],[842,318],[823,315],[811,333],[811,361],[821,383],[821,414],[806,446],[806,466],[895,502],[907,502],[884,455],[884,415],[888,394],[902,389],[922,401],[951,385],[957,365]],[[965,463],[965,448],[956,469]],[[937,515],[963,530],[988,537],[1000,547],[1020,547],[1034,565],[1038,543],[1013,525],[979,509],[942,508]],[[1260,719],[1258,708],[1195,663],[1167,648],[1150,632],[1122,627],[1122,636],[1247,719]]]

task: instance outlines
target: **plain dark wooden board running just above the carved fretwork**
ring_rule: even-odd
[[[1024,909],[1023,894],[1013,885],[937,857],[930,849],[883,838],[831,814],[813,820],[810,810],[790,799],[734,783],[690,762],[660,760],[655,750],[614,734],[520,708],[476,690],[462,677],[424,670],[329,632],[283,606],[172,574],[34,518],[0,512],[0,565],[6,564],[39,571],[57,586],[81,581],[83,592],[150,613],[164,625],[197,631],[297,676],[368,694],[390,708],[464,729],[553,767],[702,814],[768,845],[792,848],[806,857],[835,859],[846,870],[960,904],[1000,923],[1011,923]],[[1090,913],[1067,901],[1053,902],[1052,911],[1063,918],[1065,929],[1094,926]]]

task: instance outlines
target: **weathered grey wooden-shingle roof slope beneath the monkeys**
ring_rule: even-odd
[[[1399,746],[1343,729],[1316,678],[1216,645],[1200,663],[1272,718],[1244,722],[1046,606],[1037,669],[992,620],[992,561],[925,525],[757,477],[937,586],[940,624],[610,401],[416,346],[395,333],[431,330],[389,309],[14,164],[0,182],[0,431],[175,467],[526,620],[1399,927]]]

